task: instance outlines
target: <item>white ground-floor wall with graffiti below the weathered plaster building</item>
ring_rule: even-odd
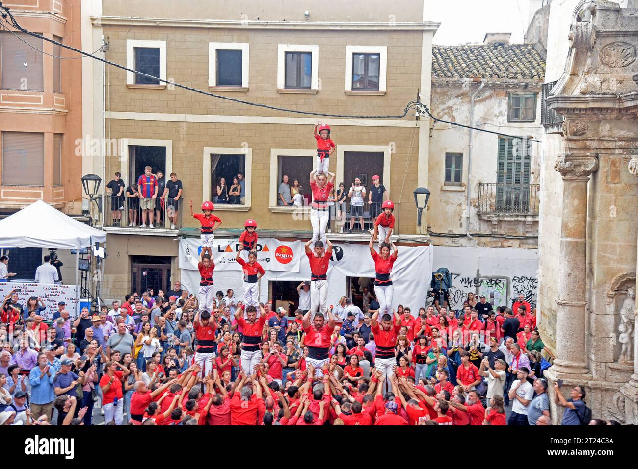
[[[453,308],[463,306],[468,292],[484,294],[495,307],[511,307],[512,297],[523,293],[536,307],[537,249],[435,246],[433,268],[439,267],[452,274]]]

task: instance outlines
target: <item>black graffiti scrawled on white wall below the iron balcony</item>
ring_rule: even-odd
[[[536,307],[536,291],[538,278],[514,276],[509,277],[486,277],[477,271],[475,277],[463,277],[460,273],[451,273],[452,288],[448,292],[450,305],[454,309],[463,307],[463,301],[468,299],[468,293],[472,292],[477,296],[485,295],[491,305],[502,306],[512,305],[512,297],[523,293],[525,301],[530,303],[532,308]],[[477,298],[478,301],[478,298]]]

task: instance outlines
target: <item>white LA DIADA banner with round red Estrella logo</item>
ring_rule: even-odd
[[[240,249],[239,238],[221,238],[212,246],[215,271],[241,270],[235,262]],[[197,270],[202,247],[198,238],[179,240],[179,268]],[[299,259],[304,255],[304,245],[300,241],[279,241],[276,238],[260,238],[257,241],[257,262],[263,270],[285,270],[299,272]],[[304,256],[305,257],[305,256]]]

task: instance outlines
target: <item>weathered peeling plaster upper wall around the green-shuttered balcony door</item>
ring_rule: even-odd
[[[477,83],[436,85],[432,88],[433,114],[440,119],[470,124],[470,94]],[[540,87],[530,85],[526,90],[538,92],[537,115],[534,122],[508,122],[508,93],[521,92],[521,88],[505,88],[486,85],[475,97],[474,126],[506,134],[533,136],[540,140]],[[491,233],[492,222],[479,218],[477,204],[479,182],[495,183],[498,162],[498,136],[475,131],[472,141],[470,180],[470,233]],[[429,159],[429,189],[432,192],[428,204],[428,224],[435,233],[466,233],[466,187],[468,184],[469,130],[436,122],[431,130]],[[461,186],[445,185],[445,153],[463,154]],[[538,156],[540,143],[531,144],[531,182],[538,183]],[[522,220],[498,221],[498,233],[524,236],[537,234],[537,222],[531,224],[531,233]],[[503,240],[498,238],[443,238],[433,236],[437,245],[535,247],[536,240]]]

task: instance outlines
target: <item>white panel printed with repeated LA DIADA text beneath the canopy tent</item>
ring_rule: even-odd
[[[45,321],[51,321],[54,312],[57,311],[57,303],[64,301],[66,310],[73,318],[77,317],[77,305],[80,287],[77,285],[45,285],[45,284],[19,284],[19,283],[0,283],[0,295],[2,299],[13,289],[19,289],[18,302],[24,310],[27,309],[27,301],[31,296],[36,298],[39,296],[44,303],[46,310],[40,313]]]

